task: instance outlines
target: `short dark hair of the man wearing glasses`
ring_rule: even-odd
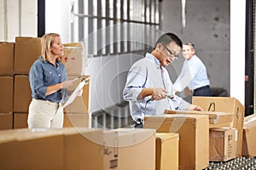
[[[176,42],[177,45],[182,48],[183,47],[183,42],[181,41],[181,39],[179,37],[177,37],[175,34],[171,33],[171,32],[167,32],[163,35],[161,35],[157,42],[155,42],[154,48],[156,47],[156,45],[158,43],[163,43],[164,45],[169,44],[170,42]]]

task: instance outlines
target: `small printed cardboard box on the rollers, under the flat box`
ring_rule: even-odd
[[[236,158],[236,128],[211,128],[209,137],[210,161],[229,161]]]

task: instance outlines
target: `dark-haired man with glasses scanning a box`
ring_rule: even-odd
[[[147,53],[131,66],[123,97],[129,101],[131,116],[137,122],[136,127],[143,124],[145,115],[164,114],[166,109],[202,111],[200,106],[190,105],[174,94],[166,70],[166,66],[177,59],[182,46],[179,37],[165,33],[157,40],[150,54]]]

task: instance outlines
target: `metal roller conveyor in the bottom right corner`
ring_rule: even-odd
[[[240,157],[230,161],[210,161],[204,170],[253,170],[256,169],[256,157]]]

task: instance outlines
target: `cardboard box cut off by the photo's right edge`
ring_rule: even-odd
[[[243,126],[242,156],[256,156],[256,114],[246,116]]]

